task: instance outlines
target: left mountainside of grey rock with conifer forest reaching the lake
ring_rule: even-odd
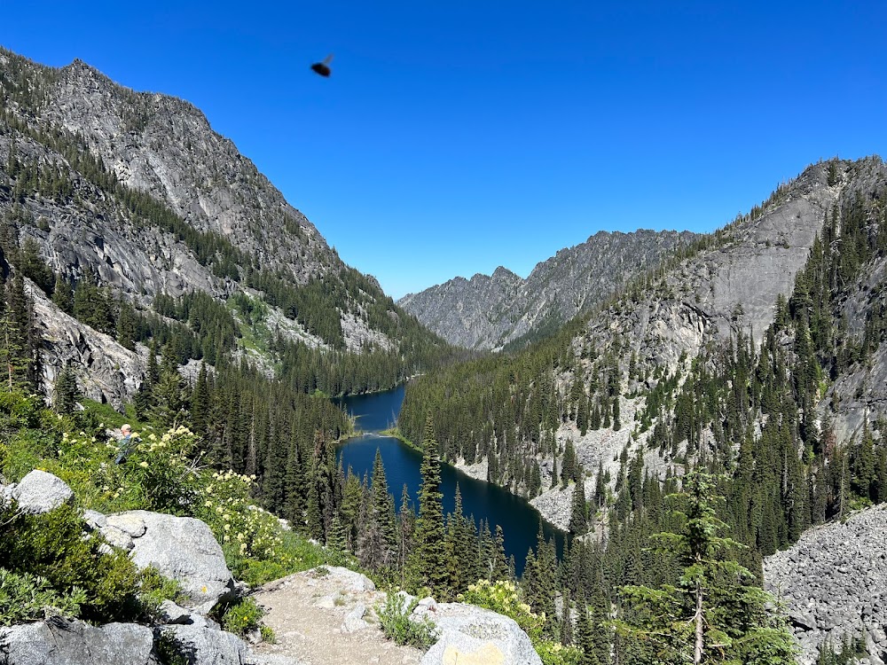
[[[79,61],[0,51],[0,266],[8,390],[187,423],[298,523],[332,520],[351,425],[329,395],[451,355],[197,109]]]

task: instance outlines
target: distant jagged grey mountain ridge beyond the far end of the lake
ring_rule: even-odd
[[[538,263],[526,279],[505,268],[454,278],[397,304],[451,344],[501,349],[558,327],[697,238],[689,231],[598,231]]]

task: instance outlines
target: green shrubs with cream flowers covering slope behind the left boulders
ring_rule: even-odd
[[[98,512],[143,509],[204,520],[232,573],[250,585],[337,563],[334,552],[285,530],[255,505],[255,476],[202,465],[200,437],[184,426],[162,434],[141,427],[129,458],[115,464],[119,444],[106,422],[120,419],[105,405],[87,403],[86,411],[63,417],[38,399],[0,395],[0,430],[10,434],[0,437],[0,473],[13,481],[34,468],[54,473],[82,508]]]

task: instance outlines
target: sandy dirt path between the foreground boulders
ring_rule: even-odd
[[[330,567],[290,575],[266,584],[253,598],[267,614],[277,644],[254,647],[304,665],[419,665],[422,653],[389,641],[379,628],[375,606],[385,594],[364,575]]]

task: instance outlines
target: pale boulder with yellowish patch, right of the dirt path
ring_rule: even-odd
[[[428,617],[437,628],[437,643],[422,665],[542,665],[527,634],[502,614],[462,603],[427,603],[413,616]]]

